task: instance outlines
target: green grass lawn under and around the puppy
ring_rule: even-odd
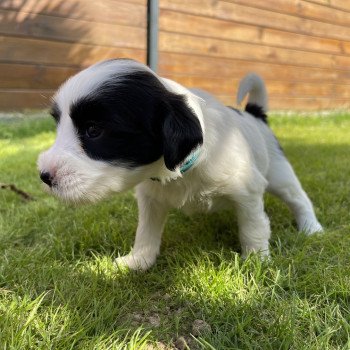
[[[36,170],[54,123],[2,116],[0,182],[36,200],[0,190],[0,348],[172,349],[183,336],[191,349],[349,349],[350,116],[275,115],[271,126],[326,232],[298,234],[266,196],[273,258],[242,261],[233,213],[173,211],[156,266],[135,273],[113,266],[133,243],[132,193],[60,203]],[[211,330],[191,337],[196,319]]]

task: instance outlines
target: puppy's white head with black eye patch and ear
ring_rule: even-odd
[[[41,179],[68,201],[120,192],[174,171],[203,142],[198,101],[132,60],[110,60],[67,80],[53,98],[53,146]]]

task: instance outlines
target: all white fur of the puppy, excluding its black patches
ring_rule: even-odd
[[[144,270],[154,264],[171,208],[188,214],[235,208],[243,255],[251,252],[269,255],[270,225],[263,204],[265,190],[287,203],[299,230],[308,234],[322,231],[309,198],[266,124],[246,112],[239,114],[228,109],[204,91],[190,91],[169,79],[159,78],[167,89],[186,96],[203,129],[200,156],[188,172],[181,174],[179,168],[169,171],[162,158],[128,170],[123,164],[87,157],[73,131],[68,106],[109,74],[135,67],[140,65],[135,63],[130,67],[130,62],[128,65],[111,61],[102,77],[93,66],[68,80],[55,97],[63,113],[55,144],[38,161],[41,171],[55,174],[53,191],[67,200],[95,200],[108,192],[136,186],[139,224],[135,243],[128,255],[116,260],[119,266]],[[247,93],[250,102],[267,110],[266,90],[260,77],[249,75],[243,79],[239,100]],[[151,181],[151,177],[161,181]]]

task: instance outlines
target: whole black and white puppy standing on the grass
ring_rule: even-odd
[[[53,146],[38,160],[41,179],[67,201],[95,201],[136,186],[139,223],[118,265],[147,269],[159,254],[167,212],[235,208],[243,255],[269,254],[265,190],[280,197],[308,234],[322,231],[267,125],[262,79],[246,76],[226,107],[129,59],[97,63],[67,80],[53,98]]]

